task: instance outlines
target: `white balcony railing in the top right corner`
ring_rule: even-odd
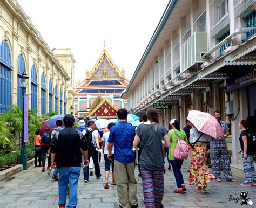
[[[235,17],[244,17],[253,10],[255,0],[234,0]]]

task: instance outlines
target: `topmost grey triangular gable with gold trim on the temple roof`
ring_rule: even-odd
[[[124,79],[124,70],[120,71],[109,56],[109,53],[103,49],[95,66],[90,72],[86,70],[86,79]]]

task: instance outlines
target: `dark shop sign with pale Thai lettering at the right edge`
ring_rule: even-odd
[[[248,72],[237,77],[227,78],[226,91],[233,91],[247,85],[252,85],[254,82],[256,82],[256,68],[254,68],[252,72]]]

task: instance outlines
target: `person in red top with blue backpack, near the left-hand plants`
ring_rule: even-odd
[[[42,161],[42,172],[45,171],[45,158],[46,158],[46,154],[49,150],[50,147],[50,133],[53,130],[53,128],[47,128],[47,127],[41,127],[39,129],[39,135],[41,136],[41,161]],[[51,161],[48,161],[48,169],[51,166]]]

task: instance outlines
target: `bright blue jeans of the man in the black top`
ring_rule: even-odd
[[[66,207],[77,206],[77,188],[80,167],[59,167],[59,202],[66,204],[67,188],[69,185],[69,202]]]

